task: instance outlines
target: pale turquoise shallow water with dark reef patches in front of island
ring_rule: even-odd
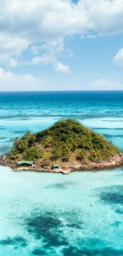
[[[123,255],[122,168],[65,176],[2,167],[0,205],[1,256]]]

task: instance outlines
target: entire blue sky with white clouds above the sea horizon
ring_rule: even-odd
[[[123,1],[0,0],[0,90],[123,90]]]

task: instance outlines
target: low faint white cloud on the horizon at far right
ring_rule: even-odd
[[[89,90],[123,90],[123,84],[106,79],[91,82]]]

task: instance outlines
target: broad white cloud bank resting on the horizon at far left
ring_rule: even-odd
[[[45,82],[30,74],[16,75],[15,73],[0,68],[0,91],[36,91],[46,90]]]

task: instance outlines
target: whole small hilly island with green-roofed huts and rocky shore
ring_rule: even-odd
[[[112,141],[67,119],[16,137],[11,152],[2,156],[0,164],[16,170],[99,170],[121,166],[123,154]]]

